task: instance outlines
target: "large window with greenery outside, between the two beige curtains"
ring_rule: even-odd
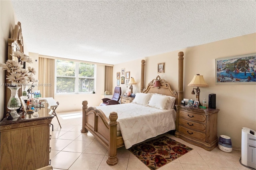
[[[96,65],[56,59],[56,94],[92,93]]]

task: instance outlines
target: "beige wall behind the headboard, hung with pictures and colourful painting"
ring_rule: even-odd
[[[218,113],[218,136],[231,137],[233,148],[241,147],[241,129],[248,127],[256,130],[256,85],[215,85],[215,59],[256,52],[256,33],[218,42],[198,45],[164,54],[146,57],[145,86],[157,75],[168,81],[178,91],[178,52],[184,52],[184,98],[195,99],[188,83],[196,74],[204,75],[209,87],[200,88],[200,101],[208,94],[216,94]],[[157,63],[165,63],[165,72],[157,73]],[[121,68],[131,71],[140,83],[140,60],[114,65],[114,74]],[[116,79],[113,80],[116,84]],[[127,88],[121,85],[122,91]],[[140,88],[140,85],[136,85]],[[138,92],[138,90],[137,90]]]

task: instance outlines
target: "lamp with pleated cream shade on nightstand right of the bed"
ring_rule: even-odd
[[[194,75],[192,81],[188,84],[188,86],[197,87],[193,88],[193,91],[191,92],[192,95],[196,94],[196,99],[198,99],[198,105],[201,106],[200,100],[199,100],[199,93],[200,89],[198,87],[209,87],[208,84],[204,81],[204,77],[200,74]],[[195,91],[196,90],[196,93]]]

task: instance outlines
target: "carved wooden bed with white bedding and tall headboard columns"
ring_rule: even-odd
[[[141,92],[136,93],[132,103],[88,107],[86,100],[82,102],[81,132],[89,130],[108,149],[108,165],[118,163],[117,148],[130,148],[148,138],[175,130],[174,105],[180,104],[183,93],[183,55],[183,52],[178,53],[178,91],[172,90],[170,84],[158,75],[146,89],[141,83]],[[144,82],[144,60],[141,65],[141,82]],[[154,87],[156,81],[160,81],[160,87]]]

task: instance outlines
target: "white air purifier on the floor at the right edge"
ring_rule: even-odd
[[[246,127],[242,128],[240,163],[256,169],[256,134],[254,130]]]

